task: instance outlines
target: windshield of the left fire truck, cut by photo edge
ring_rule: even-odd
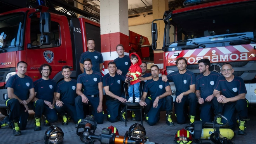
[[[0,49],[2,52],[16,51],[11,49],[22,46],[24,30],[24,13],[0,16]]]

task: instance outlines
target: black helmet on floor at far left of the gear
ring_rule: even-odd
[[[45,144],[62,144],[63,143],[64,133],[61,128],[56,125],[52,125],[51,127],[45,130],[44,134],[44,143]]]

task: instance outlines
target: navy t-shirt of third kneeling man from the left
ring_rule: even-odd
[[[75,97],[77,97],[77,80],[71,79],[71,81],[66,82],[62,80],[57,84],[57,93],[61,94],[60,100],[63,103],[75,103]]]

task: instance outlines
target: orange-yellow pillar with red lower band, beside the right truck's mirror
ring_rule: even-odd
[[[168,10],[168,0],[152,0],[153,19],[162,19],[164,12]],[[157,23],[158,40],[157,49],[162,49],[164,40],[164,21],[155,21]],[[154,51],[154,62],[160,69],[164,68],[163,51]]]

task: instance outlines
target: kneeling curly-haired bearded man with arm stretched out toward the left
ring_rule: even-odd
[[[162,76],[164,82],[170,80],[174,82],[176,87],[176,97],[174,101],[175,115],[178,124],[184,124],[188,117],[185,106],[190,107],[189,117],[190,123],[194,123],[197,107],[197,97],[195,95],[195,75],[191,71],[186,70],[187,60],[179,57],[176,60],[178,71]]]

